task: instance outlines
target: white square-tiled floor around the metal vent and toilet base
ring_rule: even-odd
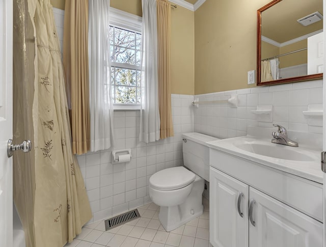
[[[83,228],[65,247],[209,247],[209,202],[204,213],[178,229],[166,232],[158,221],[159,206],[149,203],[138,208],[141,217],[105,231],[104,221]]]

